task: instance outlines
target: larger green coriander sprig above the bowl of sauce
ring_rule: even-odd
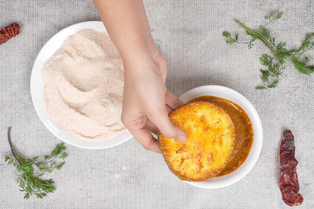
[[[314,72],[314,65],[307,65],[309,62],[308,57],[305,57],[304,61],[300,60],[300,56],[302,56],[307,50],[314,48],[314,33],[306,35],[299,49],[287,50],[285,48],[286,42],[279,42],[278,44],[275,44],[275,38],[271,37],[269,30],[265,28],[265,26],[267,26],[272,21],[280,19],[282,15],[283,13],[278,13],[275,15],[272,11],[268,16],[265,17],[265,19],[268,19],[267,24],[263,25],[255,31],[247,28],[239,21],[236,21],[237,24],[246,30],[246,34],[251,36],[250,40],[247,42],[239,42],[239,34],[235,34],[233,38],[227,31],[222,33],[222,35],[226,37],[227,44],[247,44],[247,47],[252,49],[254,46],[253,42],[256,39],[259,39],[272,52],[272,55],[262,54],[259,58],[260,63],[266,66],[267,70],[260,69],[260,77],[264,86],[257,86],[256,89],[262,90],[276,87],[279,83],[279,75],[283,73],[286,60],[288,59],[294,64],[295,69],[300,73],[310,75]]]

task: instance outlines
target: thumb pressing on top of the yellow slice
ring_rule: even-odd
[[[148,118],[166,138],[173,138],[182,143],[187,141],[187,134],[181,128],[171,123],[166,109],[163,109],[161,112],[153,112]]]

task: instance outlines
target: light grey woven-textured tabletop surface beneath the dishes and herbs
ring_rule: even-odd
[[[102,150],[80,149],[69,144],[68,158],[53,171],[57,190],[44,199],[23,200],[15,184],[14,167],[4,163],[11,154],[7,128],[17,150],[31,157],[49,153],[61,141],[38,118],[30,97],[30,74],[41,47],[59,30],[83,21],[100,20],[91,0],[0,0],[0,28],[20,24],[19,36],[0,45],[0,208],[289,208],[279,191],[279,144],[286,128],[295,135],[300,208],[314,208],[313,81],[291,67],[280,76],[279,86],[258,91],[261,84],[258,58],[269,52],[256,41],[227,45],[221,33],[245,31],[265,23],[273,9],[284,12],[269,30],[287,47],[298,47],[306,33],[314,32],[311,0],[280,1],[144,1],[154,40],[168,63],[167,87],[177,96],[202,85],[230,87],[257,109],[263,123],[263,149],[251,172],[233,185],[201,189],[180,181],[160,154],[143,149],[132,138]],[[310,60],[313,60],[313,51]],[[311,62],[314,64],[314,62]],[[125,166],[125,167],[124,167]],[[123,169],[122,169],[123,167]]]

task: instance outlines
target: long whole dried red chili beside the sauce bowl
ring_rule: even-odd
[[[295,167],[294,136],[289,130],[284,131],[284,138],[280,145],[280,179],[279,187],[284,203],[289,206],[301,205],[303,197],[298,193],[299,182]]]

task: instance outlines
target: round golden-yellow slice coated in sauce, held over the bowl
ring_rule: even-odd
[[[160,149],[170,170],[181,180],[203,181],[218,175],[233,152],[234,126],[222,108],[195,101],[169,114],[172,123],[187,133],[181,143],[158,133]]]

